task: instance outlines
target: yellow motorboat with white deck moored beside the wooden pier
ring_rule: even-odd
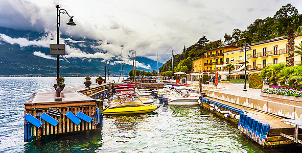
[[[122,93],[121,95],[132,95],[131,93]],[[138,114],[138,113],[149,113],[158,109],[158,106],[148,105],[142,103],[141,100],[136,98],[123,98],[114,100],[104,110],[103,114]]]

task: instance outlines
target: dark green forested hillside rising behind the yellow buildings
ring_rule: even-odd
[[[183,71],[191,72],[192,71],[192,59],[203,56],[203,51],[208,49],[213,49],[221,47],[224,45],[236,45],[242,46],[244,43],[252,44],[254,42],[259,42],[263,40],[272,39],[275,37],[284,36],[285,33],[276,33],[276,22],[280,22],[281,18],[291,19],[292,16],[301,17],[302,15],[298,14],[298,10],[291,4],[283,6],[278,10],[273,17],[266,17],[264,19],[256,19],[251,23],[246,30],[241,31],[240,29],[234,29],[233,33],[224,35],[224,41],[221,39],[210,41],[207,40],[206,36],[202,36],[197,43],[191,45],[188,48],[183,48],[182,54],[177,54],[173,56],[173,68],[174,72]],[[279,20],[278,20],[279,19]],[[284,25],[286,27],[288,25]],[[302,28],[300,28],[301,30]],[[166,61],[164,65],[159,68],[159,72],[162,75],[167,76],[171,74],[171,59]],[[170,75],[169,75],[170,76]]]

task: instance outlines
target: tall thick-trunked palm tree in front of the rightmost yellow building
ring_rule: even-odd
[[[277,18],[274,26],[273,26],[273,35],[282,36],[286,35],[287,37],[287,45],[288,45],[288,65],[294,65],[294,44],[295,44],[295,34],[301,33],[302,30],[302,15],[293,14],[289,16],[281,16]]]

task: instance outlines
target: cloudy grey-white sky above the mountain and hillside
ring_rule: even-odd
[[[124,50],[153,60],[158,53],[159,61],[165,62],[171,49],[179,54],[184,45],[191,46],[203,35],[211,41],[223,39],[225,33],[245,30],[255,19],[273,16],[288,3],[302,13],[302,1],[283,0],[0,0],[0,27],[55,35],[58,4],[77,23],[69,27],[65,24],[68,16],[61,15],[62,34],[110,43],[95,46],[108,51],[100,58],[118,56],[124,45]],[[43,43],[48,45],[48,41]]]

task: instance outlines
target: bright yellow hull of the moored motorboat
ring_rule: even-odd
[[[105,111],[103,111],[103,114],[140,114],[140,113],[149,113],[157,109],[158,107],[155,105],[118,107],[118,108],[108,108]]]

